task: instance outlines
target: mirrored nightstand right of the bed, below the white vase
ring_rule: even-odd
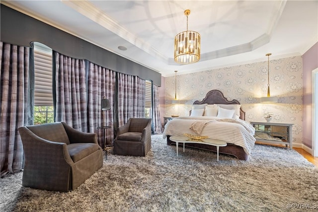
[[[271,144],[285,144],[293,148],[292,128],[293,124],[273,122],[250,122],[255,128],[256,141]]]

